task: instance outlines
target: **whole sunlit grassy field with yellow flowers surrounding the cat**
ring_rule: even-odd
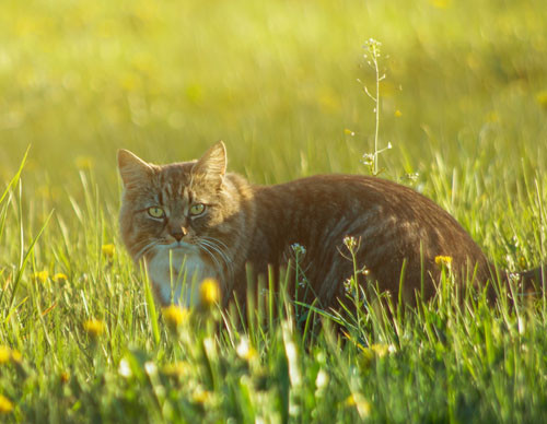
[[[542,296],[462,306],[447,272],[406,310],[350,291],[337,328],[280,298],[244,323],[160,309],[120,244],[115,160],[222,139],[258,184],[370,174],[377,130],[380,177],[435,200],[500,268],[537,267],[543,0],[4,0],[0,40],[1,422],[547,421]]]

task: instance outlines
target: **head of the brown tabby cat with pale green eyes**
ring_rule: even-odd
[[[220,141],[198,161],[153,165],[118,151],[124,182],[121,237],[137,261],[165,248],[207,252],[225,245],[225,220],[234,213],[226,190],[226,151]]]

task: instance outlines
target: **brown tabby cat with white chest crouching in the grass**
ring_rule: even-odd
[[[326,308],[344,297],[353,274],[344,245],[358,243],[357,261],[368,282],[397,298],[434,294],[441,267],[452,258],[457,281],[486,283],[494,268],[462,226],[431,200],[398,184],[359,175],[319,175],[276,186],[255,186],[226,174],[218,142],[199,161],[152,165],[120,150],[124,181],[121,237],[138,262],[144,259],[162,304],[195,304],[193,286],[220,282],[225,306],[244,299],[246,264],[255,274],[278,270],[291,246],[305,248],[300,263],[311,285],[307,302]],[[507,274],[502,273],[503,279]],[[525,280],[539,270],[522,274]],[[195,284],[190,284],[190,282]],[[422,287],[423,282],[423,287]]]

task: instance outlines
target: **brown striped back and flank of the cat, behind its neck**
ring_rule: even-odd
[[[255,199],[260,227],[269,239],[307,249],[312,280],[318,282],[316,288],[325,298],[334,295],[330,282],[344,280],[351,271],[341,255],[347,252],[347,236],[358,240],[359,266],[366,267],[384,290],[397,290],[404,263],[408,287],[419,284],[423,273],[434,278],[437,256],[453,258],[454,268],[473,269],[478,263],[479,273],[487,272],[482,251],[457,221],[432,200],[397,182],[359,175],[316,175],[255,187]]]

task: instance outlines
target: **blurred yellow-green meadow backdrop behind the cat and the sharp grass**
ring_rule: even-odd
[[[2,0],[0,181],[31,145],[27,199],[71,210],[85,173],[115,211],[117,149],[173,162],[219,139],[230,168],[255,182],[365,174],[374,104],[357,80],[374,89],[372,37],[386,74],[380,144],[393,144],[384,176],[419,173],[441,203],[435,173],[449,189],[475,173],[486,196],[501,180],[517,191],[546,170],[546,10],[544,0]]]

